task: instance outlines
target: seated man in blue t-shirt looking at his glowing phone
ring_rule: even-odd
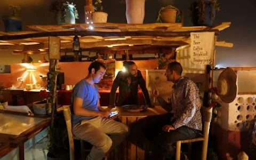
[[[89,66],[89,75],[78,82],[71,97],[73,134],[93,145],[86,159],[101,160],[126,137],[128,127],[113,118],[110,112],[100,106],[99,83],[106,73],[106,67],[99,61]]]

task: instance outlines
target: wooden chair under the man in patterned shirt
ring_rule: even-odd
[[[203,141],[201,159],[206,160],[211,119],[212,119],[212,107],[203,108],[204,133],[200,134],[199,138],[182,140],[182,141],[176,142],[176,160],[180,160],[181,143],[188,143],[188,150],[189,150],[189,153],[191,153],[192,142],[197,142],[197,141]]]

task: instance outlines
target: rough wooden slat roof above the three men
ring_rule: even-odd
[[[190,44],[190,33],[201,31],[219,32],[230,26],[223,22],[215,27],[182,27],[181,23],[94,23],[59,25],[59,26],[28,26],[29,31],[12,33],[0,32],[0,50],[38,51],[48,49],[48,36],[58,36],[61,39],[61,50],[71,50],[74,35],[78,35],[83,50],[106,49],[108,47],[129,46],[183,46]],[[93,27],[93,28],[92,28]],[[232,43],[216,42],[217,46],[232,47]]]

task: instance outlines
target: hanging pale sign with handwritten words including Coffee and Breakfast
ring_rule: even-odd
[[[190,60],[194,64],[209,65],[214,52],[214,32],[190,33]]]

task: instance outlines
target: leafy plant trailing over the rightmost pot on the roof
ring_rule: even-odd
[[[215,20],[214,12],[220,11],[220,3],[218,0],[198,0],[198,2],[193,2],[190,5],[190,16],[194,17],[194,14],[198,15],[199,22],[203,22],[205,20],[205,4],[210,4],[211,6],[211,20]]]

